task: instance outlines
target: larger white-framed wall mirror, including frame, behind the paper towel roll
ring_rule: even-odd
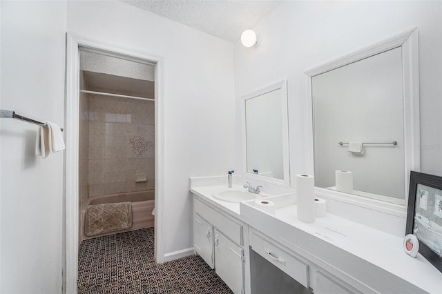
[[[315,186],[405,206],[420,170],[417,29],[306,75]]]

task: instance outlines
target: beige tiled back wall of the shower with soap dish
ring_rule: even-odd
[[[88,95],[88,107],[89,197],[155,188],[154,102]]]

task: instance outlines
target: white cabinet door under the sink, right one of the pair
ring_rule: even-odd
[[[215,229],[215,271],[235,294],[244,293],[244,250]]]

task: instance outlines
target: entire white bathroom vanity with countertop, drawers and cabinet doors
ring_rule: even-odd
[[[421,255],[403,252],[402,237],[332,213],[300,222],[296,192],[270,184],[271,209],[254,199],[225,202],[213,197],[229,189],[223,182],[191,178],[194,243],[233,293],[252,293],[256,254],[302,285],[302,293],[442,293],[442,273]]]

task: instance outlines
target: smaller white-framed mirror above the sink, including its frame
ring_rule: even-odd
[[[290,186],[287,81],[242,96],[244,176]]]

